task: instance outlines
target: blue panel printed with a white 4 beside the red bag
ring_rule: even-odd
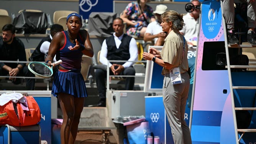
[[[51,95],[48,97],[34,96],[34,99],[41,111],[41,121],[39,123],[41,127],[41,141],[51,144]]]

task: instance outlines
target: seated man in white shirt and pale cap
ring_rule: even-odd
[[[144,41],[153,41],[154,46],[162,46],[164,44],[164,39],[166,38],[167,34],[162,31],[162,27],[160,24],[162,23],[161,14],[167,10],[166,5],[157,5],[156,10],[153,11],[154,15],[156,16],[156,21],[153,21],[148,24],[146,32],[144,34]]]

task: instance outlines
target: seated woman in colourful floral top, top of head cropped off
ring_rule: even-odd
[[[138,0],[129,3],[120,16],[127,25],[126,33],[129,36],[143,37],[150,21],[155,21],[153,9],[146,5],[150,0]],[[141,9],[139,8],[141,6]],[[143,13],[141,12],[143,11]],[[144,14],[144,16],[143,16]],[[144,19],[146,18],[146,20]]]

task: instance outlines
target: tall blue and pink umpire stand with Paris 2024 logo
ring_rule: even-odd
[[[254,143],[255,115],[248,128],[238,129],[236,111],[255,112],[256,108],[251,106],[256,92],[256,72],[233,69],[255,66],[230,65],[230,57],[241,53],[241,47],[253,46],[228,45],[220,0],[202,2],[199,23],[189,123],[192,143]]]

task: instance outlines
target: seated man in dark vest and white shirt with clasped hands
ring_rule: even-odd
[[[123,20],[121,18],[115,18],[113,20],[113,30],[115,33],[102,43],[100,62],[103,65],[108,65],[108,60],[138,60],[136,40],[127,34],[123,34],[123,28]],[[107,68],[109,67],[110,69],[110,75],[135,75],[135,69],[132,65],[133,62],[110,62]],[[96,69],[95,79],[100,97],[99,106],[106,106],[106,77],[107,70]],[[126,77],[125,90],[133,90],[134,82],[135,77]]]

